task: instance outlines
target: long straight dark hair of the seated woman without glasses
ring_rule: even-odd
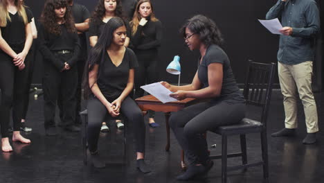
[[[93,70],[95,64],[99,64],[98,77],[102,73],[101,65],[105,62],[104,55],[114,40],[114,31],[121,26],[125,26],[125,21],[120,17],[113,17],[109,19],[105,28],[98,38],[97,44],[90,50],[89,58],[84,67],[83,82],[82,86],[84,88],[84,98],[88,98],[91,92],[91,87],[89,86],[89,72]]]

